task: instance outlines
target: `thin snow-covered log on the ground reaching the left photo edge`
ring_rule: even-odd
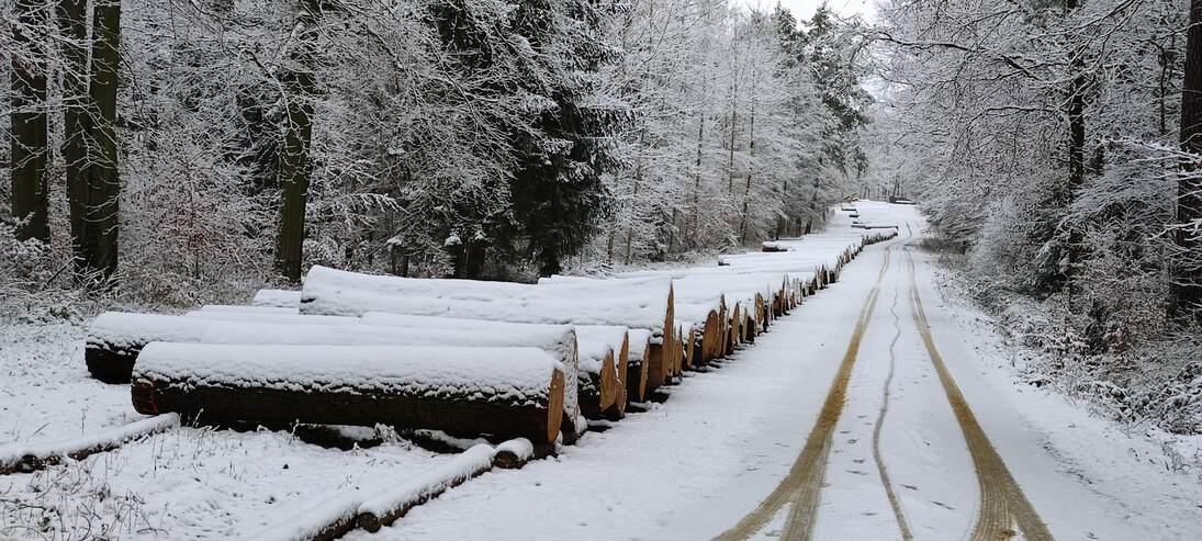
[[[64,441],[0,445],[0,475],[40,470],[47,465],[58,464],[64,458],[82,460],[90,454],[120,447],[126,441],[166,432],[178,426],[179,416],[168,414]]]

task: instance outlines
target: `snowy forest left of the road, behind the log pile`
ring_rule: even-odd
[[[531,279],[801,234],[858,20],[726,0],[0,5],[0,273],[186,304],[313,263]],[[245,289],[245,287],[244,287]]]

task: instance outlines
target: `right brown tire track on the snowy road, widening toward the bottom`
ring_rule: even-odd
[[[909,228],[909,225],[906,227]],[[1006,468],[1006,463],[993,447],[989,436],[981,428],[968,400],[947,370],[947,364],[939,355],[939,350],[935,349],[927,314],[922,309],[922,299],[918,296],[914,256],[908,246],[903,246],[903,250],[910,267],[910,305],[914,323],[918,328],[918,334],[922,335],[927,353],[939,374],[940,384],[944,386],[947,402],[964,433],[964,440],[972,456],[972,465],[981,487],[980,510],[976,523],[972,525],[971,539],[975,541],[1006,540],[1022,533],[1029,541],[1053,541],[1055,537],[1052,536],[1052,531],[1048,530],[1047,524],[1040,518],[1039,512],[1035,511],[1031,501],[1027,499],[1022,487]],[[1018,531],[1013,529],[1016,525]]]

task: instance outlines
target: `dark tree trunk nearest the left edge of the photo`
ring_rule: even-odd
[[[42,5],[38,5],[42,4]],[[18,23],[13,41],[28,54],[12,55],[12,216],[20,220],[17,239],[50,242],[46,196],[46,40],[37,32],[46,25],[46,5],[17,0]],[[28,47],[22,47],[22,44]]]

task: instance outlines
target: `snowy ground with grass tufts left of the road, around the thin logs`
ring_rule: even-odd
[[[0,326],[0,444],[37,447],[148,417],[88,377],[85,329]],[[385,434],[370,450],[287,432],[179,427],[82,460],[0,475],[0,539],[239,539],[331,498],[367,499],[448,460]]]

